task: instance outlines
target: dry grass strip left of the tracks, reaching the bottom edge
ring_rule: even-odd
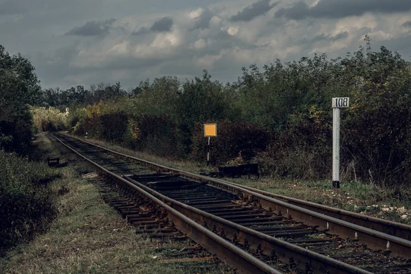
[[[49,154],[58,156],[48,138],[43,142]],[[162,263],[167,252],[181,250],[188,242],[152,242],[147,235],[136,235],[134,227],[103,202],[97,186],[82,178],[81,173],[91,171],[84,161],[75,161],[64,149],[60,158],[70,164],[51,186],[66,189],[58,202],[58,217],[49,232],[0,260],[0,273],[197,273],[191,266]],[[225,271],[217,265],[201,273]]]

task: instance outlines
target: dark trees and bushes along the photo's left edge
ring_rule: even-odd
[[[49,184],[62,174],[47,166],[31,144],[31,105],[41,101],[32,64],[0,46],[0,256],[44,232],[57,214],[59,194]]]

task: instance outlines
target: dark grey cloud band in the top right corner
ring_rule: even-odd
[[[341,18],[362,15],[365,12],[404,12],[411,10],[411,1],[404,0],[321,0],[310,8],[306,2],[299,1],[290,8],[281,8],[275,16],[301,20],[306,17]]]

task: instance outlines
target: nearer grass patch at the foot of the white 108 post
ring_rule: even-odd
[[[411,199],[399,199],[395,190],[388,188],[360,182],[342,182],[340,188],[335,189],[330,181],[299,182],[268,177],[258,181],[245,177],[227,180],[278,195],[411,224]]]

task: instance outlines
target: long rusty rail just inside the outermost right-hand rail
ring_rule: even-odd
[[[295,206],[291,203],[287,203],[286,201],[275,199],[273,197],[269,197],[267,195],[256,192],[256,190],[253,188],[247,189],[238,184],[225,182],[221,179],[214,179],[203,175],[197,175],[195,173],[189,173],[187,171],[180,171],[178,169],[173,169],[168,166],[155,164],[147,160],[142,160],[130,155],[119,153],[117,151],[113,151],[112,149],[107,149],[105,147],[92,144],[91,142],[87,142],[86,140],[82,140],[81,138],[77,138],[75,136],[68,137],[80,140],[81,142],[84,142],[88,145],[92,145],[94,147],[98,147],[99,149],[110,151],[114,155],[119,155],[129,160],[135,160],[147,166],[152,166],[156,169],[171,171],[172,173],[178,173],[190,179],[195,179],[201,182],[208,182],[213,186],[216,186],[223,190],[227,190],[237,195],[242,194],[245,199],[253,199],[255,201],[258,201],[261,204],[262,208],[266,210],[273,210],[273,212],[279,215],[286,214],[286,216],[292,216],[292,219],[303,221],[307,225],[319,225],[321,229],[329,229],[329,232],[331,232],[332,234],[337,234],[338,236],[340,236],[340,238],[356,239],[362,244],[365,244],[372,249],[391,251],[391,253],[394,256],[400,256],[402,258],[407,259],[411,258],[410,240],[405,240],[403,238],[391,236],[389,234],[376,231],[374,229],[349,223],[347,221],[343,221],[332,216],[327,216],[325,214],[321,214],[313,210],[308,210],[300,206]]]

